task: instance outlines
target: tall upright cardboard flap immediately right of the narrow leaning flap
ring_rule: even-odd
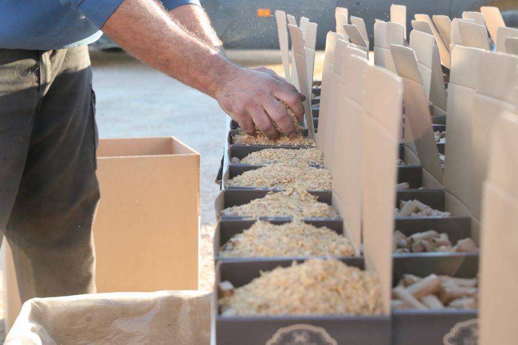
[[[452,50],[448,115],[448,145],[445,147],[445,209],[458,216],[471,216],[472,197],[472,122],[477,71],[482,49],[457,46]],[[478,238],[476,239],[476,241]]]

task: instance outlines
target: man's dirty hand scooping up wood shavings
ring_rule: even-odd
[[[257,125],[265,136],[276,139],[279,134],[272,125],[271,118],[287,137],[297,136],[293,119],[279,100],[293,110],[299,122],[304,119],[304,106],[301,101],[304,96],[299,94],[293,85],[280,80],[277,75],[272,76],[257,70],[236,69],[225,81],[216,99],[239,127],[251,135],[255,133]]]

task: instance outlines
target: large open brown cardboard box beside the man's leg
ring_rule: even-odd
[[[199,154],[172,137],[104,139],[97,162],[97,290],[196,290]]]

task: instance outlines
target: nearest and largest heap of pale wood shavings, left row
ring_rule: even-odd
[[[338,260],[311,259],[262,272],[219,299],[239,316],[381,314],[378,276]]]

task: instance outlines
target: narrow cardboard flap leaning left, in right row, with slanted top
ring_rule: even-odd
[[[415,53],[411,48],[395,45],[391,46],[391,51],[397,74],[403,80],[405,118],[408,120],[415,148],[423,167],[423,186],[440,188],[442,186],[442,169],[439,151],[431,126],[428,100]]]

